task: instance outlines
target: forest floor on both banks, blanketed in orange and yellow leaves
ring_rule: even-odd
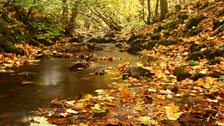
[[[118,35],[121,51],[137,53],[149,62],[135,64],[137,73],[129,63],[119,64],[117,71],[123,73],[124,83],[108,84],[108,89],[81,99],[53,99],[48,108],[39,109],[42,116],[34,122],[41,125],[47,120],[61,126],[223,126],[223,5],[222,0],[198,2],[162,22]],[[69,50],[99,49],[72,44],[66,38],[42,48],[17,46],[26,55],[1,53],[1,72],[38,62],[37,58],[80,57]],[[139,68],[147,72],[139,72]]]

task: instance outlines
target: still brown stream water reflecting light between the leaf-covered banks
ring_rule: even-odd
[[[94,67],[71,72],[68,66],[74,59],[51,58],[44,59],[36,65],[18,68],[14,73],[1,73],[0,125],[25,125],[32,111],[47,106],[53,98],[76,98],[80,94],[94,93],[96,89],[107,88],[107,84],[122,82],[119,73],[103,76],[91,73],[108,67],[114,68],[119,63],[136,63],[140,60],[138,56],[120,52],[114,44],[98,46],[104,50],[90,53],[122,59],[99,61]]]

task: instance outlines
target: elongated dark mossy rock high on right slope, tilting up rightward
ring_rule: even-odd
[[[205,16],[192,17],[187,21],[186,28],[191,29],[193,26],[198,26],[198,24],[204,20]]]

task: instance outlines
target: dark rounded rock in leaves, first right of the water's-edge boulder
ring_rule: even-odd
[[[174,75],[177,77],[177,81],[184,80],[191,76],[191,74],[185,71],[183,67],[176,67],[174,69]]]

